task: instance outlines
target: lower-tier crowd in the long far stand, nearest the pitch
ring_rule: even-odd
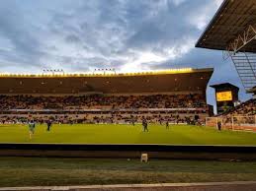
[[[180,124],[195,122],[195,115],[161,115],[161,114],[147,114],[147,115],[128,115],[128,114],[112,114],[112,115],[91,115],[91,116],[69,116],[69,115],[3,115],[0,116],[0,124],[27,124],[28,121],[33,120],[36,123],[45,123],[48,120],[53,121],[55,124],[135,124],[141,123],[145,118],[149,123],[164,124],[165,122]],[[200,124],[204,123],[204,119],[197,118],[196,121]]]

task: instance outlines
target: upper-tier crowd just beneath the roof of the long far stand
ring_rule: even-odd
[[[94,108],[206,108],[202,95],[0,96],[0,110]]]

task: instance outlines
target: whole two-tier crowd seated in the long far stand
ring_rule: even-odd
[[[143,117],[151,123],[184,123],[206,112],[206,99],[198,94],[0,96],[0,123],[26,123],[32,118],[39,123],[48,118],[55,123],[70,124],[140,123]]]

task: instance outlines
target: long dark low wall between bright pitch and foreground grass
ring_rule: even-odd
[[[174,145],[0,144],[1,157],[256,160],[256,147]]]

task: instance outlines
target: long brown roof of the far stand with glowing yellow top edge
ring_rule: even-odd
[[[213,68],[126,74],[0,74],[0,95],[136,94],[206,91]]]

